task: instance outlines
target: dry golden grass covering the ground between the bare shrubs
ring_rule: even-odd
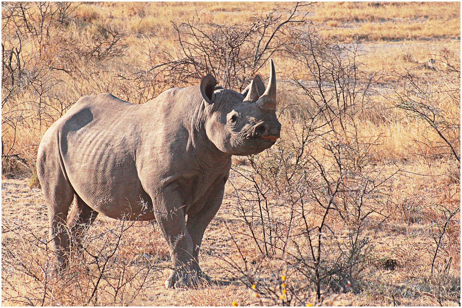
[[[215,24],[229,26],[252,22],[256,14],[264,16],[277,6],[291,8],[293,3],[75,3],[69,22],[65,26],[52,26],[41,44],[32,39],[23,40],[24,66],[29,72],[32,67],[38,68],[42,74],[38,80],[49,90],[46,95],[38,95],[31,87],[24,87],[2,105],[5,155],[2,157],[2,304],[220,306],[231,305],[233,301],[239,305],[282,303],[256,298],[254,292],[236,278],[239,275],[229,265],[229,260],[233,260],[243,266],[242,257],[253,265],[264,262],[257,245],[249,237],[248,226],[239,218],[235,187],[245,189],[249,183],[236,172],[232,172],[233,186],[229,183],[226,186],[222,208],[209,225],[201,248],[202,267],[218,284],[197,290],[164,289],[168,251],[155,224],[125,222],[128,229],[122,232],[121,244],[115,249],[112,240],[121,235],[121,223],[102,217],[88,230],[88,251],[95,252],[103,247],[102,256],[110,255],[114,249],[115,254],[109,260],[109,271],[97,292],[91,296],[100,271],[86,253],[75,258],[74,269],[63,276],[45,275],[51,268],[51,254],[46,244],[47,210],[40,188],[29,187],[34,185],[32,170],[43,133],[82,95],[111,92],[122,99],[144,103],[172,86],[164,80],[154,83],[153,80],[160,77],[146,73],[161,62],[159,50],[168,50],[171,54],[179,51],[171,21],[187,22],[194,17],[198,27],[213,29]],[[450,211],[459,208],[460,165],[448,155],[445,144],[425,122],[394,108],[395,94],[402,90],[397,76],[410,72],[417,82],[428,86],[434,107],[444,110],[445,117],[460,127],[460,96],[457,103],[446,91],[459,88],[460,76],[456,80],[448,79],[448,67],[443,62],[437,62],[436,69],[425,65],[430,59],[440,59],[438,56],[460,63],[460,3],[318,3],[303,7],[300,14],[305,13],[308,13],[307,20],[313,23],[311,27],[326,41],[338,41],[341,48],[351,48],[355,36],[359,37],[362,55],[358,56],[358,61],[364,64],[365,73],[378,73],[379,79],[370,98],[374,105],[363,111],[356,127],[347,127],[345,136],[353,136],[356,128],[363,142],[377,140],[368,148],[373,155],[372,171],[380,169],[386,177],[396,169],[401,170],[388,182],[389,199],[380,200],[386,206],[375,204],[382,206],[381,216],[371,215],[365,221],[364,233],[370,238],[373,251],[362,287],[323,294],[322,305],[460,304],[460,212],[447,226],[444,245],[431,273],[436,249],[434,237],[445,221],[443,208]],[[5,9],[2,14],[4,17]],[[2,20],[2,25],[5,22]],[[88,37],[101,34],[101,27],[126,34],[118,45],[120,54],[102,60],[80,56],[94,47]],[[5,49],[17,46],[14,31],[5,28],[2,32]],[[80,50],[76,52],[69,46]],[[302,78],[305,73],[296,62],[283,55],[275,54],[274,60],[278,81]],[[460,71],[460,64],[457,68]],[[144,79],[134,79],[133,74],[139,72],[144,73]],[[262,75],[266,72],[265,65]],[[281,140],[290,143],[294,135],[289,128],[298,124],[293,114],[282,111],[282,107],[294,102],[303,102],[301,109],[312,106],[290,85],[280,84],[279,118],[284,128]],[[40,84],[34,86],[40,89]],[[2,95],[4,99],[5,89]],[[40,118],[36,111],[39,100],[44,111]],[[459,148],[460,131],[454,131],[454,145]],[[351,142],[350,137],[345,137],[343,142]],[[320,141],[313,143],[313,155],[325,155],[321,145]],[[18,156],[14,156],[16,154]],[[260,158],[271,161],[267,152]],[[330,160],[333,165],[335,161],[329,157],[325,158],[325,164],[329,165]],[[235,157],[233,163],[249,168],[247,158]],[[32,180],[29,181],[30,176]],[[283,219],[288,212],[281,200],[273,198],[270,201],[273,215]],[[314,204],[306,206],[310,223],[316,226],[323,211]],[[341,234],[345,228],[342,221],[334,216],[329,219],[330,226]],[[301,226],[294,228],[300,230]],[[108,235],[109,230],[112,235]],[[269,279],[279,273],[280,265],[266,264],[261,277]],[[125,269],[123,276],[122,268]],[[118,279],[125,284],[114,289]],[[288,283],[298,282],[294,271]],[[279,288],[279,285],[274,287]],[[315,303],[316,294],[307,294],[304,300]]]

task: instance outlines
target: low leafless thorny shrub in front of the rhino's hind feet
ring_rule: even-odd
[[[81,252],[73,249],[69,268],[54,271],[47,228],[2,221],[3,302],[19,305],[129,305],[168,267],[146,254],[121,254],[136,222],[91,227]],[[15,283],[28,281],[27,288]]]

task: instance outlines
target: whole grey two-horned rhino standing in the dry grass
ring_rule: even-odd
[[[273,62],[266,89],[258,76],[243,93],[215,86],[207,75],[200,86],[141,105],[111,94],[83,97],[47,130],[37,175],[60,268],[69,239],[78,243],[103,214],[157,221],[175,268],[167,287],[209,281],[199,248],[221,205],[231,157],[271,147],[281,128]]]

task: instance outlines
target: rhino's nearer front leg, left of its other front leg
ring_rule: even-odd
[[[200,281],[194,261],[191,236],[186,229],[185,206],[182,194],[175,183],[152,194],[155,217],[165,238],[174,269],[165,281],[166,287],[194,286]]]

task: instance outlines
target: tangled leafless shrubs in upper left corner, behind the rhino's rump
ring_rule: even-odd
[[[124,54],[126,34],[118,29],[100,27],[82,39],[80,25],[69,27],[76,7],[66,2],[2,4],[4,170],[32,174],[40,141],[35,138],[78,99],[69,93],[80,94],[79,84],[91,82],[94,71],[86,67],[101,70],[102,62]],[[76,82],[69,84],[69,79]],[[25,170],[7,159],[20,155],[27,161]]]

